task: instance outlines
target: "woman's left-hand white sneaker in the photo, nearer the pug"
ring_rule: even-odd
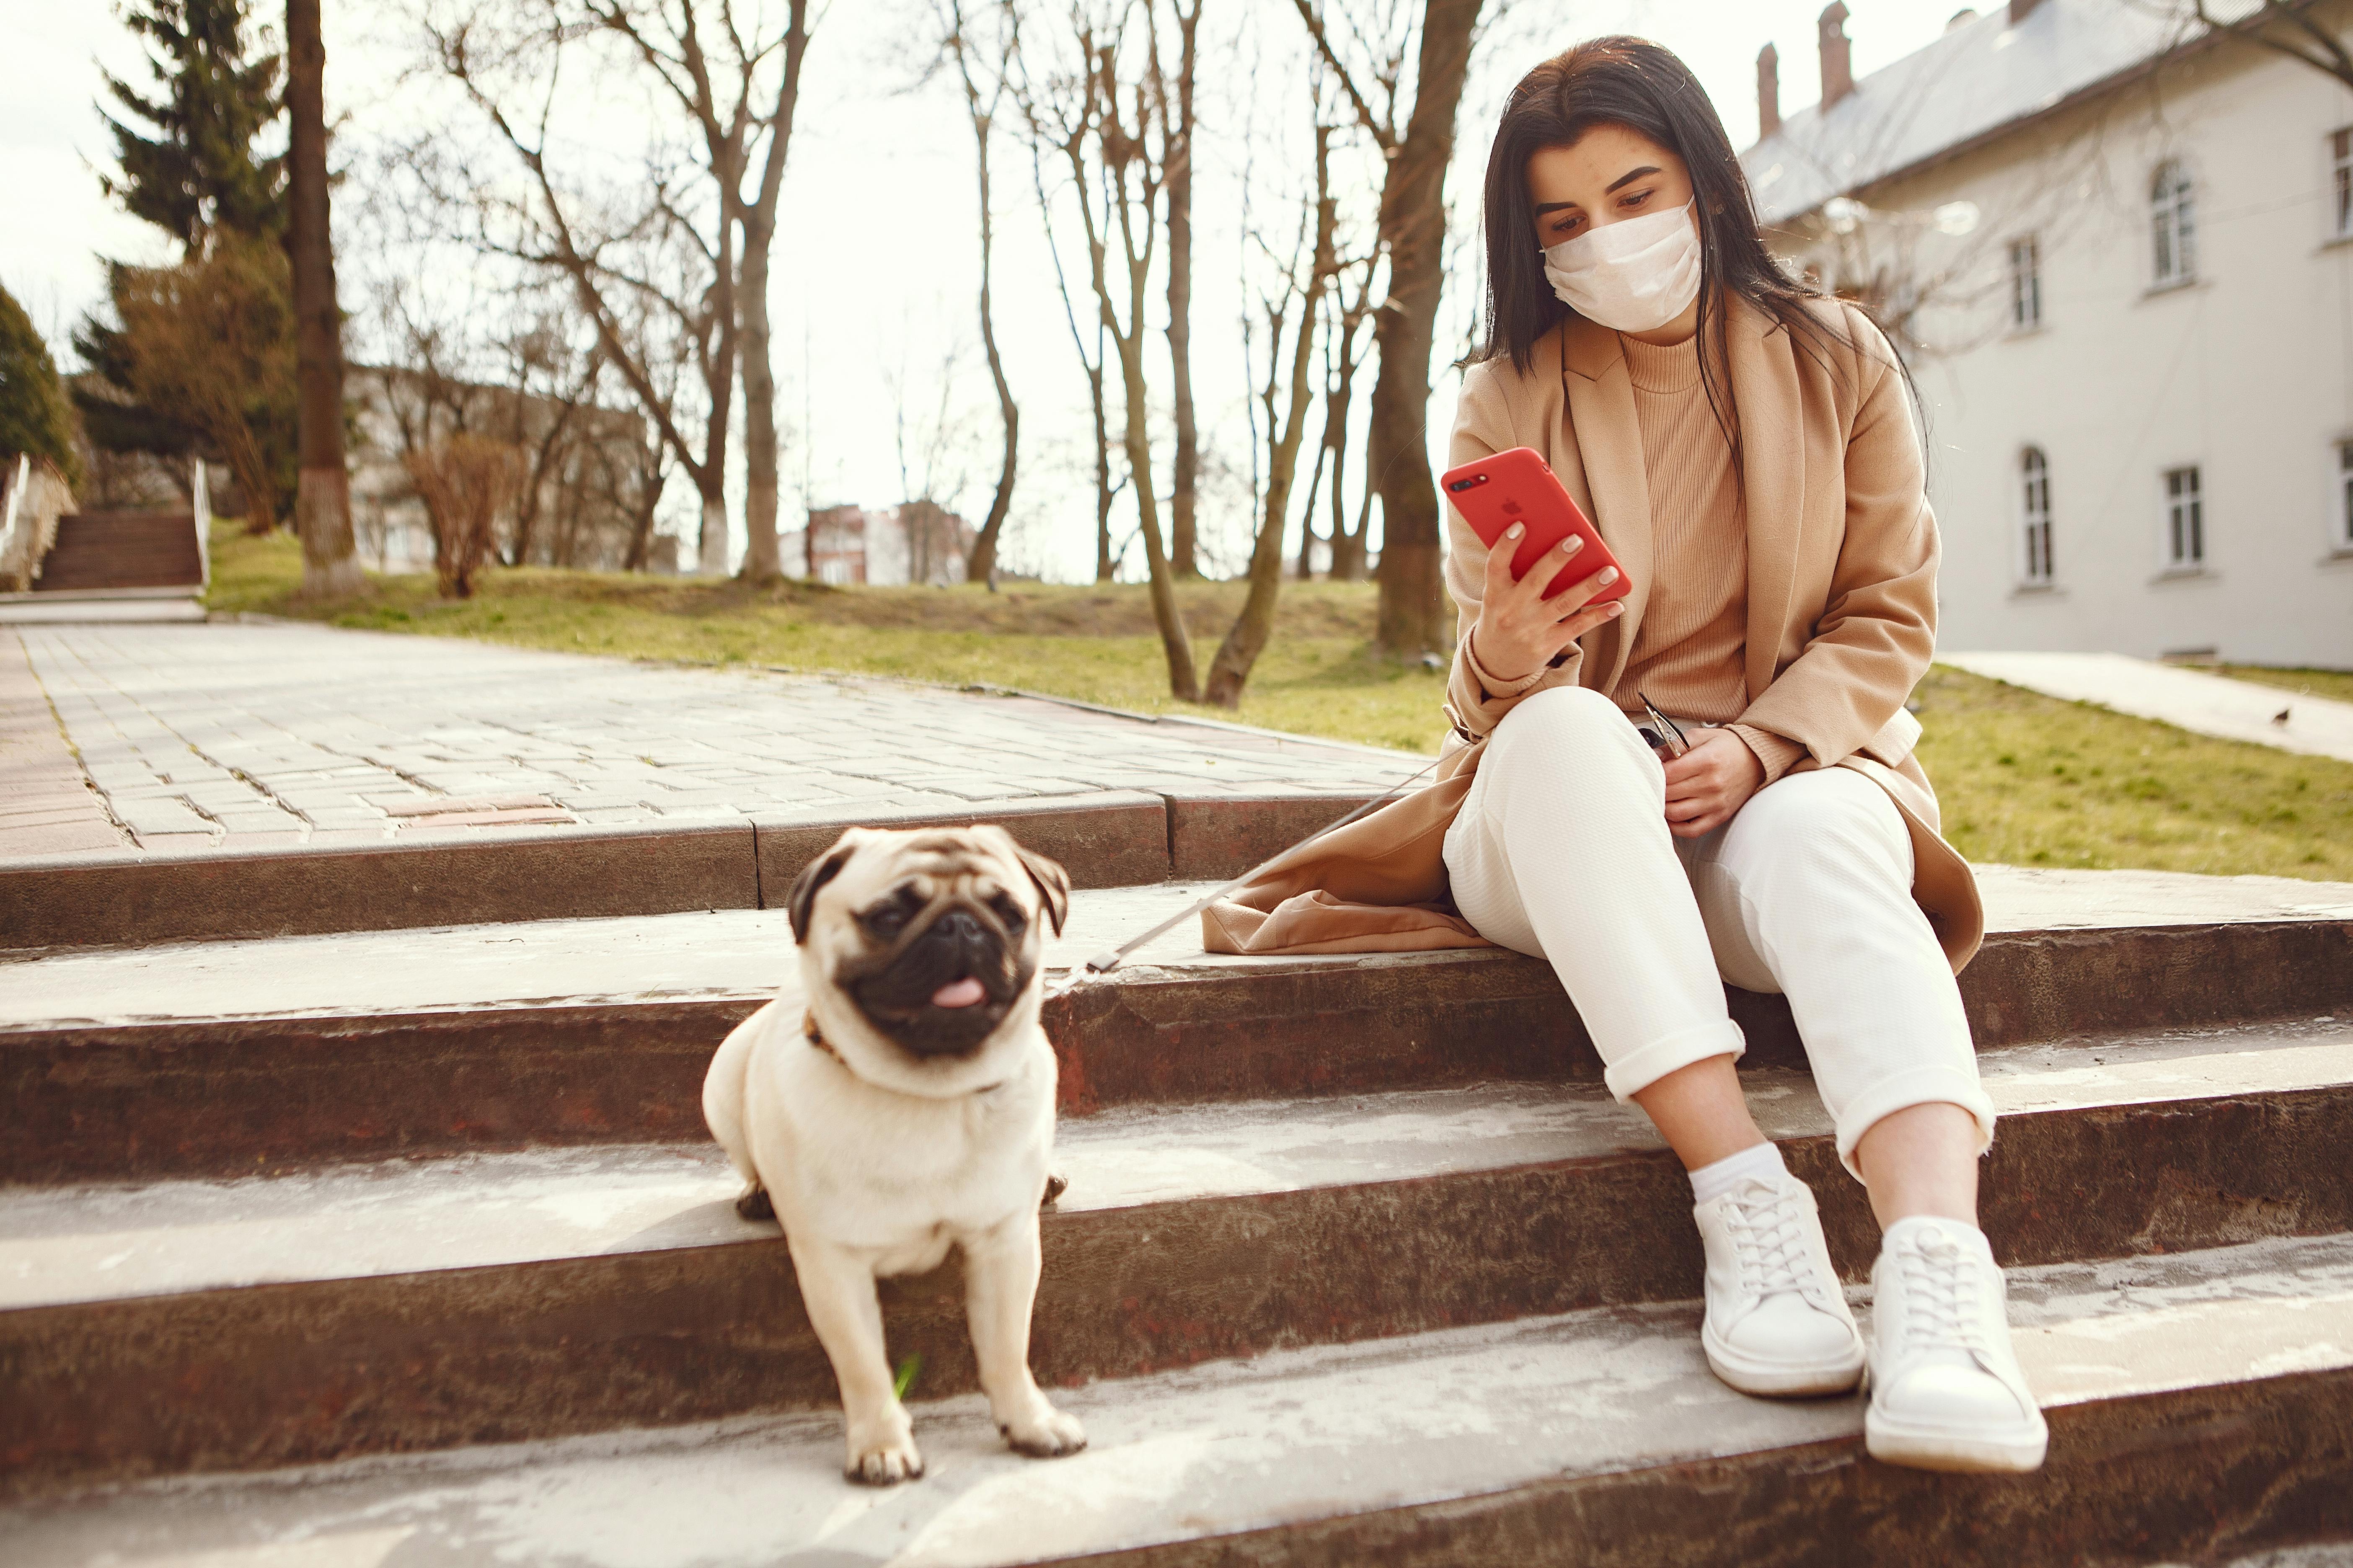
[[[1845,1394],[1864,1335],[1821,1241],[1814,1192],[1795,1175],[1746,1180],[1692,1208],[1708,1248],[1708,1371],[1741,1394]]]

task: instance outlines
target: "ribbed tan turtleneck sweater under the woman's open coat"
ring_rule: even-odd
[[[1805,755],[1795,741],[1732,724],[1748,708],[1748,520],[1708,390],[1699,336],[1654,348],[1619,336],[1649,482],[1649,602],[1609,698],[1642,715],[1649,696],[1675,719],[1727,724],[1774,780]]]

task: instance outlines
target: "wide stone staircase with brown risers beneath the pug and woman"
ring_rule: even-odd
[[[2005,1117],[1986,1229],[2052,1420],[2024,1479],[1880,1467],[1859,1401],[1706,1373],[1682,1175],[1515,954],[1238,961],[1179,931],[1059,994],[1071,1190],[1033,1363],[1092,1448],[1002,1450],[951,1260],[885,1288],[932,1469],[868,1493],[840,1479],[774,1225],[734,1215],[699,1114],[711,1048],[788,961],[781,910],[362,931],[381,922],[313,900],[304,936],[73,950],[5,924],[5,1556],[2158,1563],[2339,1542],[2353,903],[2193,884],[1988,877],[1962,992]],[[1082,891],[1049,961],[1188,893]],[[1734,1004],[1751,1103],[1861,1279],[1875,1229],[1788,1011]]]

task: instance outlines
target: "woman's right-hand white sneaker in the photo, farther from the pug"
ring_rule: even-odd
[[[1915,1469],[2040,1469],[2049,1427],[2009,1349],[2007,1288],[1974,1225],[1913,1215],[1871,1267],[1864,1448]]]

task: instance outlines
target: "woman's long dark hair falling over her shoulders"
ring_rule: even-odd
[[[1527,371],[1537,343],[1572,315],[1544,277],[1537,212],[1527,197],[1527,160],[1569,146],[1595,125],[1624,125],[1682,158],[1692,172],[1699,212],[1699,329],[1715,353],[1699,355],[1715,423],[1732,442],[1732,473],[1741,473],[1741,421],[1727,376],[1725,296],[1737,294],[1781,322],[1791,343],[1838,374],[1833,348],[1871,353],[1817,315],[1824,299],[1781,270],[1758,233],[1748,176],[1732,153],[1715,106],[1671,49],[1642,38],[1595,38],[1544,61],[1511,89],[1504,122],[1487,153],[1487,343],[1478,360],[1508,357]],[[1901,357],[1897,369],[1911,386]]]

